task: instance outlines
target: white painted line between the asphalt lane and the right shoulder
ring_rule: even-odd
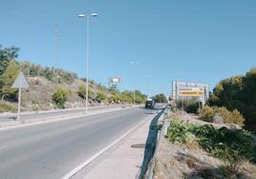
[[[91,156],[89,159],[85,160],[83,163],[81,163],[80,165],[78,165],[75,169],[72,169],[69,173],[67,173],[66,175],[64,175],[61,179],[70,179],[71,177],[73,177],[79,170],[84,169],[86,166],[88,166],[91,162],[93,162],[99,155],[101,155],[102,153],[104,153],[105,151],[107,151],[108,149],[112,148],[113,146],[115,146],[119,141],[121,141],[124,137],[126,137],[127,135],[129,135],[133,130],[139,128],[140,125],[142,125],[143,123],[145,123],[149,118],[153,118],[156,114],[154,114],[153,116],[150,115],[148,116],[145,120],[139,122],[138,125],[136,125],[134,128],[129,129],[127,132],[125,132],[123,135],[121,135],[119,138],[117,138],[117,140],[115,140],[114,142],[112,142],[109,146],[107,146],[104,149],[99,150],[98,152],[96,152],[96,154],[94,154],[93,156]]]

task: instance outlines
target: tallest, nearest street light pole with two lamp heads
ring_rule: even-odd
[[[85,112],[88,111],[88,89],[89,89],[89,72],[88,72],[88,62],[89,62],[89,30],[90,30],[90,16],[96,17],[97,13],[91,14],[79,14],[78,18],[86,18],[87,24],[87,33],[86,33],[86,96],[85,96]]]

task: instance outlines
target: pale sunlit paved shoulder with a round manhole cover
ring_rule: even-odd
[[[137,129],[96,158],[92,164],[77,172],[73,178],[138,178],[152,118],[153,116],[147,118]]]

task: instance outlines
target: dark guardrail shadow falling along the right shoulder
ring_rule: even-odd
[[[148,132],[147,140],[146,140],[146,144],[145,144],[143,162],[140,167],[139,179],[143,178],[143,176],[146,172],[148,163],[149,163],[150,159],[152,158],[152,156],[154,155],[154,151],[155,151],[157,141],[158,141],[157,140],[158,139],[158,121],[159,121],[160,115],[163,113],[164,109],[165,108],[160,109],[160,112],[158,113],[158,115],[156,115],[150,123],[149,132]]]

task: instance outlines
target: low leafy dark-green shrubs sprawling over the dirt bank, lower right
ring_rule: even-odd
[[[240,165],[245,161],[252,165],[256,163],[255,139],[245,129],[217,129],[212,125],[189,124],[176,119],[168,127],[167,139],[188,149],[203,149],[221,160],[218,173],[212,172],[207,178],[241,178],[242,175],[246,178]]]

